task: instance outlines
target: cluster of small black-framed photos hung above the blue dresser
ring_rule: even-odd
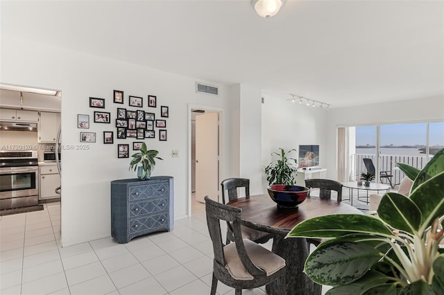
[[[78,114],[77,127],[83,129],[80,132],[80,142],[103,144],[117,144],[117,158],[129,158],[130,147],[140,150],[142,141],[149,140],[167,141],[167,118],[169,118],[169,107],[160,105],[157,107],[157,96],[148,94],[146,96],[128,95],[124,91],[114,90],[112,93],[112,105],[117,106],[115,118],[112,112],[105,111],[106,98],[89,97],[89,108],[91,114]],[[110,103],[106,103],[110,106]],[[113,107],[114,108],[114,107]],[[157,111],[159,110],[159,111]],[[92,122],[90,122],[92,117]],[[110,127],[103,128],[103,141],[97,138],[96,132],[87,132],[91,124],[106,126],[115,122],[115,131]],[[158,138],[158,139],[157,139]],[[128,143],[133,139],[132,143]]]

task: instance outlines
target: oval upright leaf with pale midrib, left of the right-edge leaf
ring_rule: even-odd
[[[377,208],[377,215],[390,226],[412,233],[421,224],[421,211],[418,206],[404,195],[386,193]]]

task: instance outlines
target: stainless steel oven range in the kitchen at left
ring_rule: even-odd
[[[0,209],[38,204],[37,151],[0,151]]]

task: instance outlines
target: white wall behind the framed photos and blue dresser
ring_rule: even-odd
[[[62,244],[67,246],[110,235],[110,181],[135,177],[128,171],[130,159],[117,159],[117,143],[130,144],[137,139],[117,139],[117,107],[128,106],[128,95],[157,96],[156,118],[160,106],[169,106],[168,141],[146,138],[148,148],[159,150],[164,161],[157,161],[153,175],[174,177],[175,217],[185,217],[188,208],[188,105],[207,105],[223,109],[222,129],[230,130],[229,87],[219,85],[219,96],[195,92],[194,78],[117,62],[63,48],[1,36],[1,82],[62,91]],[[205,82],[201,81],[200,82]],[[211,84],[215,84],[211,82]],[[217,85],[217,84],[216,84]],[[124,91],[125,104],[112,102],[113,90]],[[88,107],[89,97],[105,98],[105,109]],[[151,108],[144,107],[145,111]],[[94,123],[94,111],[111,113],[111,123]],[[89,114],[90,128],[77,129],[77,114]],[[96,143],[80,143],[80,131],[96,132]],[[114,132],[114,144],[103,144],[103,131]],[[223,131],[224,132],[224,131]],[[236,154],[230,137],[223,134],[222,153]],[[73,146],[69,150],[66,148]],[[260,148],[260,147],[258,147]],[[171,150],[179,150],[172,158]],[[237,152],[239,153],[239,152]],[[223,171],[232,171],[230,162]]]

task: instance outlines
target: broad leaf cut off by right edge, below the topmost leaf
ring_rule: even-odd
[[[384,198],[383,198],[384,199]],[[412,190],[410,199],[422,213],[422,223],[432,224],[436,217],[444,215],[444,172],[429,178],[416,190]]]

